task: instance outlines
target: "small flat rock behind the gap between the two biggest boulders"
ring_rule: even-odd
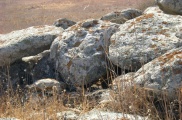
[[[107,20],[113,23],[123,24],[127,20],[133,19],[140,15],[142,15],[142,12],[140,10],[129,8],[120,12],[108,13],[105,16],[103,16],[101,20]]]

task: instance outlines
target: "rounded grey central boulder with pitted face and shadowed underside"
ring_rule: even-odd
[[[106,74],[110,36],[118,25],[101,20],[86,20],[66,29],[51,45],[51,58],[64,81],[81,86]]]

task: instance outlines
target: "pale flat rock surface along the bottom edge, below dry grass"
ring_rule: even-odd
[[[99,109],[93,109],[84,114],[78,114],[74,111],[63,111],[57,113],[57,118],[59,120],[149,120],[148,117],[141,117],[139,115],[106,112]]]

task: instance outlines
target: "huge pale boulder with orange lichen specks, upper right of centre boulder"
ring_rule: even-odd
[[[121,69],[138,70],[165,52],[182,46],[182,16],[150,7],[144,14],[120,25],[111,37],[110,60]]]

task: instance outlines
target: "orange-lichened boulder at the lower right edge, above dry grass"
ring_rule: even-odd
[[[139,87],[165,93],[169,98],[177,97],[182,87],[182,47],[170,50],[139,69],[134,76]]]

